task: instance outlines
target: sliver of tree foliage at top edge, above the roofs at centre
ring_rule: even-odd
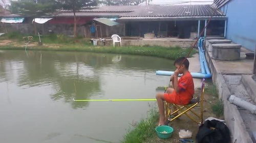
[[[101,1],[107,6],[125,6],[125,5],[139,5],[147,0],[103,0]]]

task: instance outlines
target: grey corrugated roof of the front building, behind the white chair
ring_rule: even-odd
[[[143,7],[143,8],[142,8]],[[145,16],[145,17],[177,17],[177,16],[224,16],[211,5],[172,5],[172,6],[141,6],[134,12],[124,13],[120,16]]]

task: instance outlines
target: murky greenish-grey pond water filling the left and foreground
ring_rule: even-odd
[[[1,142],[120,142],[155,102],[72,98],[155,98],[168,84],[156,70],[173,69],[150,56],[1,50]]]

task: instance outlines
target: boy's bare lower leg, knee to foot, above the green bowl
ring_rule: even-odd
[[[157,99],[157,105],[158,105],[158,109],[159,109],[159,122],[158,125],[164,125],[165,124],[165,117],[164,117],[164,94],[163,93],[158,93],[156,95],[156,99]]]

